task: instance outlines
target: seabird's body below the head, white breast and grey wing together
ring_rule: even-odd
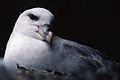
[[[17,69],[16,64],[33,70],[55,70],[65,73],[79,72],[91,66],[96,69],[104,68],[102,58],[94,49],[91,51],[87,46],[57,36],[53,37],[52,42],[48,44],[19,33],[15,34],[6,51],[14,53],[6,54],[4,61],[12,70]]]

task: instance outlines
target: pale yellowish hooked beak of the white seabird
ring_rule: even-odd
[[[50,42],[53,36],[53,33],[51,31],[44,32],[40,27],[38,28],[38,33],[40,34],[40,36],[42,36],[44,38],[44,40],[46,40],[47,42]]]

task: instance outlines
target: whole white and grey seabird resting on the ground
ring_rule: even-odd
[[[13,72],[24,67],[63,74],[104,70],[101,52],[49,30],[54,19],[49,10],[40,7],[21,13],[6,46],[5,67]]]

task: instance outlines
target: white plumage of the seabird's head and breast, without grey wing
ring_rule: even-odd
[[[4,64],[8,68],[15,71],[16,64],[36,68],[44,62],[41,59],[51,53],[52,32],[47,29],[53,17],[43,8],[26,10],[19,16],[5,51]]]

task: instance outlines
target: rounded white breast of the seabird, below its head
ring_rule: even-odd
[[[47,58],[50,54],[48,43],[16,34],[8,41],[4,62],[8,65],[13,64],[12,67],[20,64],[26,67],[45,68],[50,61],[50,58]]]

